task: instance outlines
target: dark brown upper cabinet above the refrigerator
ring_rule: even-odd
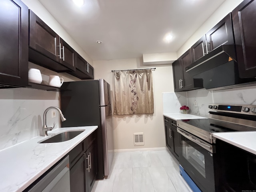
[[[78,53],[76,53],[76,71],[69,73],[80,79],[94,79],[93,67]]]

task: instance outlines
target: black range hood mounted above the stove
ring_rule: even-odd
[[[240,78],[234,44],[221,45],[186,67],[193,78],[202,79],[206,89],[232,86],[256,81]]]

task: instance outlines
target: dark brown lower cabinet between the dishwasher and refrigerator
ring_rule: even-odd
[[[70,192],[91,192],[97,176],[96,131],[69,152]]]

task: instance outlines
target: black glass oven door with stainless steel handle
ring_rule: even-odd
[[[181,134],[181,166],[200,190],[215,192],[213,146],[180,128],[177,131]]]

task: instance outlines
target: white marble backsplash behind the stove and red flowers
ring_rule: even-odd
[[[185,94],[186,93],[186,94]],[[191,114],[208,116],[208,104],[248,104],[256,105],[256,86],[230,88],[225,90],[192,90],[179,93],[162,93],[163,113],[175,113],[177,104],[184,103],[184,97],[176,97],[175,95],[182,94],[186,96]],[[178,100],[178,101],[177,101]],[[197,106],[195,106],[195,101]]]

